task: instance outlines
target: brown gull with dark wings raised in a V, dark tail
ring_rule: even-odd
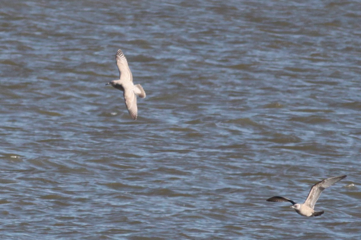
[[[294,208],[296,210],[296,212],[302,216],[305,216],[305,217],[320,216],[325,211],[316,212],[315,210],[313,210],[313,208],[316,204],[316,201],[319,198],[319,195],[322,193],[323,190],[325,190],[326,187],[329,187],[329,186],[335,184],[336,182],[344,179],[345,177],[347,177],[347,176],[342,175],[342,176],[327,178],[327,179],[317,182],[317,184],[315,184],[311,187],[311,190],[310,190],[305,202],[302,204],[296,203],[296,202],[292,201],[291,199],[288,199],[285,197],[280,197],[280,196],[271,197],[271,198],[267,199],[266,201],[289,201],[293,205],[290,208]]]

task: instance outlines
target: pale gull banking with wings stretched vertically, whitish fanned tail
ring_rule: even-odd
[[[116,60],[119,69],[119,79],[110,81],[105,85],[112,85],[116,89],[123,91],[125,105],[128,109],[129,115],[135,120],[138,115],[136,96],[145,98],[145,92],[140,84],[133,84],[133,77],[130,72],[127,59],[120,49],[117,51]]]

